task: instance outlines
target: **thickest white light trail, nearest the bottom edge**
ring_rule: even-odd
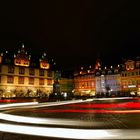
[[[0,123],[0,131],[68,139],[139,139],[139,129],[70,129]]]

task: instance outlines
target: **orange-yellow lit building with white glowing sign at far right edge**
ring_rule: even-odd
[[[127,60],[121,72],[121,90],[125,94],[140,95],[140,58]]]

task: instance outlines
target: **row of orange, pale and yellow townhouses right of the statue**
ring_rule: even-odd
[[[127,60],[116,67],[89,66],[74,73],[74,90],[78,95],[140,95],[140,58]]]

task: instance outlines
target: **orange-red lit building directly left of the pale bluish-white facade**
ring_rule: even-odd
[[[95,73],[94,68],[81,67],[80,71],[74,73],[74,93],[80,96],[95,95]]]

